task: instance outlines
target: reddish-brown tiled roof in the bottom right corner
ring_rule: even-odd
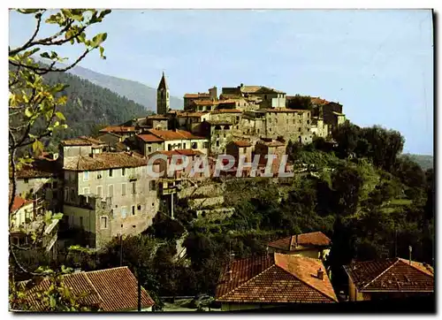
[[[344,266],[358,291],[434,292],[432,268],[401,258],[351,263]]]

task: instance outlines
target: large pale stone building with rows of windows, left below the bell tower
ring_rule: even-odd
[[[147,160],[126,152],[88,153],[81,146],[75,146],[76,152],[69,148],[61,160],[67,225],[96,232],[95,226],[103,221],[103,232],[110,232],[111,237],[144,231],[158,209],[156,179],[149,176]],[[74,155],[66,156],[70,154]]]

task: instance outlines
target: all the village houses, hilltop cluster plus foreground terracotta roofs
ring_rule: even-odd
[[[333,128],[347,121],[339,103],[311,98],[311,109],[288,108],[293,99],[273,88],[241,84],[222,88],[219,96],[216,87],[208,93],[187,94],[184,110],[171,110],[163,74],[157,88],[156,115],[105,127],[95,137],[62,141],[57,153],[44,153],[33,164],[20,168],[10,220],[12,241],[26,245],[29,239],[23,229],[42,225],[39,217],[52,210],[64,216],[43,226],[47,238],[43,246],[48,252],[57,255],[57,247],[70,244],[98,250],[118,236],[145,231],[160,202],[168,202],[173,210],[174,194],[181,181],[189,179],[189,170],[184,168],[172,177],[149,175],[150,170],[167,171],[173,155],[193,159],[204,155],[209,160],[231,155],[235,164],[241,156],[249,163],[254,155],[262,159],[274,155],[276,171],[289,141],[305,144],[314,137],[328,138]],[[158,154],[168,160],[148,164],[149,158]],[[208,178],[196,175],[192,179],[197,183]],[[232,261],[224,267],[217,301],[226,310],[338,302],[323,264],[330,245],[322,232],[272,241],[267,255]],[[432,271],[421,263],[396,259],[352,264],[346,270],[349,297],[354,301],[382,293],[433,290]],[[95,302],[101,309],[135,309],[133,290],[137,287],[130,270],[94,272],[73,274],[69,281],[79,290],[82,282],[92,284],[88,286],[96,293]],[[103,280],[107,274],[114,280]],[[124,297],[119,299],[118,290],[123,287],[127,293],[121,293]],[[142,308],[151,308],[149,293],[142,294]]]

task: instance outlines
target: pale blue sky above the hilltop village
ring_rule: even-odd
[[[400,131],[404,152],[432,155],[432,27],[430,10],[113,10],[90,29],[107,32],[107,59],[80,65],[154,88],[165,72],[179,97],[240,83],[320,96],[358,126]],[[11,12],[12,47],[33,31]]]

